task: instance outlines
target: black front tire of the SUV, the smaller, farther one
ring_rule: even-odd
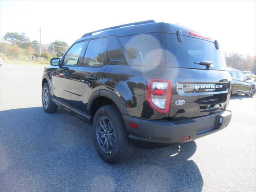
[[[46,92],[46,90],[47,90],[47,95],[48,95],[48,104],[47,105],[44,100],[44,92]],[[43,105],[44,111],[46,113],[55,113],[58,109],[58,106],[52,102],[52,95],[50,93],[49,84],[47,82],[45,82],[42,87],[42,105]]]

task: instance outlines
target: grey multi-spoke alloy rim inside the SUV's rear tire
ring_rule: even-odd
[[[116,142],[116,134],[112,122],[106,117],[100,118],[97,123],[96,134],[102,151],[110,154]]]

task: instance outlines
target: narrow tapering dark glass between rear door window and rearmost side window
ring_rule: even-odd
[[[114,36],[108,38],[108,58],[111,65],[128,65],[124,54]]]

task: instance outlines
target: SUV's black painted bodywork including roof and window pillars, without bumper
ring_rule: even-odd
[[[184,36],[190,36],[188,29],[182,26],[152,23],[85,36],[74,44],[86,41],[87,45],[91,39],[108,38],[108,36],[121,37],[152,32],[174,34],[177,30],[182,30]],[[202,66],[200,68],[167,67],[167,61],[164,66],[136,66],[131,64],[126,54],[124,56],[128,61],[127,65],[112,65],[106,56],[104,66],[89,67],[82,66],[84,52],[86,48],[82,49],[76,66],[63,66],[65,55],[60,60],[60,65],[46,66],[43,83],[46,81],[49,83],[52,97],[61,101],[59,106],[80,118],[81,116],[90,118],[89,122],[97,108],[95,102],[106,99],[116,104],[122,115],[126,117],[166,122],[216,114],[224,111],[228,104],[231,76],[226,70],[206,69]],[[90,78],[91,76],[95,79]],[[145,88],[148,78],[171,80],[172,96],[168,113],[158,113],[146,102]],[[222,87],[209,91],[196,88],[207,85]],[[177,105],[178,100],[184,100],[184,104]]]

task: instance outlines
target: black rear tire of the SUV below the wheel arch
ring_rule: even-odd
[[[100,145],[100,142],[103,143],[103,141],[106,141],[106,139],[109,138],[109,136],[103,136],[105,134],[100,132],[99,130],[99,129],[103,130],[103,127],[100,126],[100,122],[102,120],[106,122],[107,121],[110,122],[110,125],[112,126],[112,129],[111,129],[112,136],[113,134],[115,135],[114,140],[112,140],[112,142],[114,141],[113,142],[114,146],[112,147],[109,144],[110,150],[108,151],[103,149],[104,146],[106,145],[104,146]],[[126,129],[125,129],[124,120],[122,118],[121,113],[119,112],[118,108],[115,105],[105,105],[100,107],[94,116],[92,128],[93,128],[93,141],[94,141],[95,148],[98,154],[100,155],[100,157],[105,162],[109,164],[120,163],[128,159],[132,155],[134,146],[132,146],[132,144],[128,139],[128,133],[126,132]],[[110,128],[108,128],[108,130],[110,130]],[[105,133],[107,134],[107,132]],[[98,139],[99,137],[102,138],[102,136],[106,138]],[[107,140],[107,142],[110,143],[110,138]]]

